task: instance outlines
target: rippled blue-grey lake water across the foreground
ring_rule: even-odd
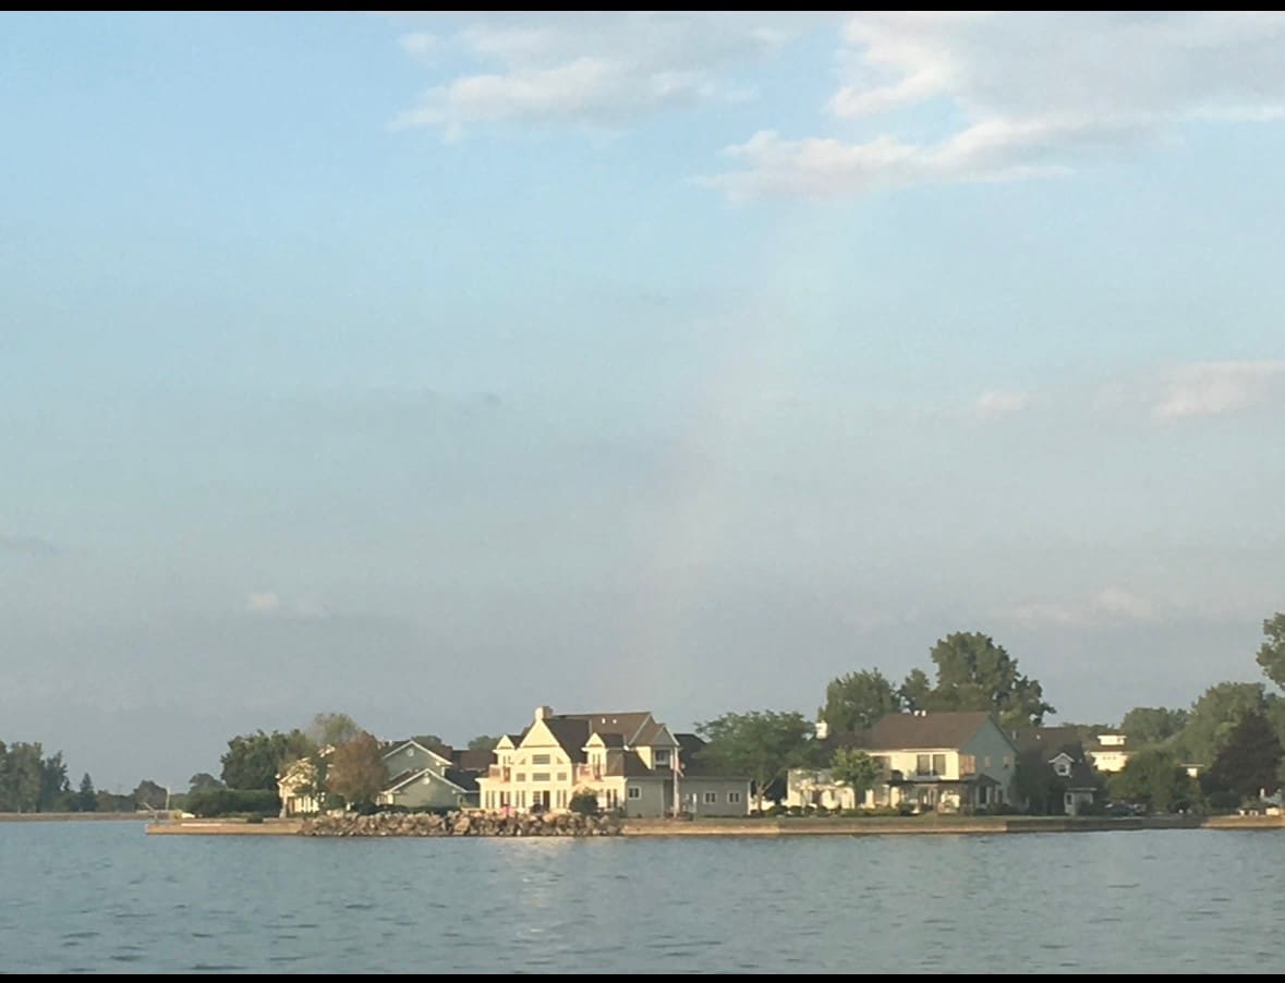
[[[1240,973],[1285,831],[146,837],[0,822],[6,973]]]

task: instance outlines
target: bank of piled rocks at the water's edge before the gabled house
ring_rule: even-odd
[[[504,816],[495,812],[330,815],[305,820],[305,837],[618,837],[613,816]]]

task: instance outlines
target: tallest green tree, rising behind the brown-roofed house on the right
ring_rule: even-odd
[[[1038,726],[1046,713],[1041,685],[1018,671],[1018,660],[989,635],[953,632],[939,639],[930,653],[937,666],[937,686],[926,709],[988,711],[1005,729]]]

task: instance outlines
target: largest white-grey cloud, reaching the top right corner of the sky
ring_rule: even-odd
[[[837,121],[893,127],[925,108],[935,141],[762,131],[729,148],[745,170],[699,179],[732,199],[835,197],[929,181],[1061,173],[1183,121],[1285,114],[1285,14],[862,13],[844,30]]]

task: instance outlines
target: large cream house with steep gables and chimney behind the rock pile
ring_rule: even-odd
[[[522,734],[496,747],[495,763],[478,779],[481,806],[562,812],[574,794],[589,793],[600,808],[625,816],[690,811],[693,797],[700,815],[747,815],[749,780],[702,772],[690,759],[700,743],[675,736],[645,711],[555,714],[538,707]]]

